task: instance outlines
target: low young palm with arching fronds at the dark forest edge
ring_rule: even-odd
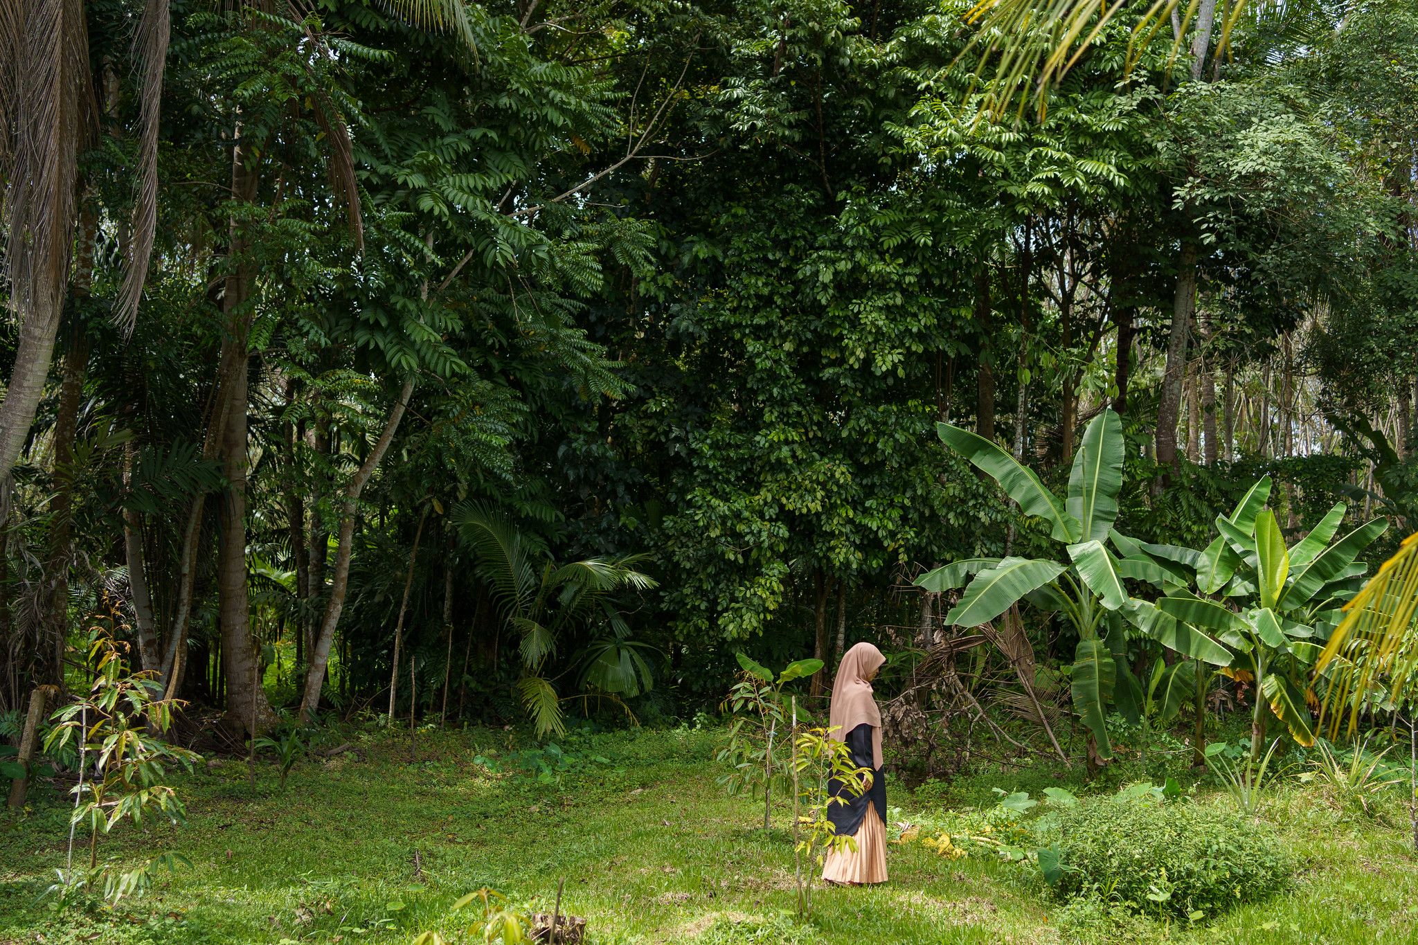
[[[607,594],[655,587],[654,579],[632,568],[644,555],[559,565],[536,538],[502,513],[464,503],[454,510],[452,520],[462,541],[478,555],[478,572],[492,585],[503,625],[520,639],[522,679],[516,689],[523,708],[532,715],[537,735],[562,734],[562,704],[546,676],[547,663],[567,633],[604,611]],[[587,655],[591,666],[583,680],[615,680],[625,694],[635,694],[648,681],[644,660],[621,633],[613,643],[593,645]],[[637,669],[640,681],[634,679]],[[621,679],[627,673],[631,679]]]

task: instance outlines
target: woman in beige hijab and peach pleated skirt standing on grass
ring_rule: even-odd
[[[856,851],[830,851],[822,861],[827,883],[861,885],[886,881],[886,782],[882,778],[882,714],[872,696],[872,679],[886,657],[871,643],[858,643],[842,656],[832,683],[831,738],[847,742],[852,764],[869,769],[871,786],[854,798],[832,779],[828,791],[844,803],[827,805],[838,836],[856,839]]]

